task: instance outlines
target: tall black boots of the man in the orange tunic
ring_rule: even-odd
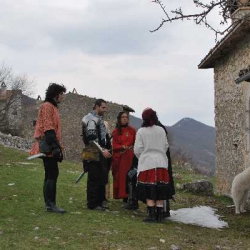
[[[66,211],[56,205],[56,180],[47,180],[45,186],[46,211],[65,213]]]

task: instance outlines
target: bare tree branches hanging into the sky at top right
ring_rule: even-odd
[[[166,5],[164,5],[164,1]],[[250,3],[243,3],[244,1],[237,0],[193,0],[193,4],[197,7],[197,13],[184,13],[182,7],[176,8],[175,10],[167,10],[167,1],[168,0],[153,0],[153,3],[159,5],[162,11],[165,14],[165,18],[162,19],[161,23],[158,27],[151,30],[150,32],[155,32],[159,30],[165,23],[172,23],[177,20],[193,20],[198,25],[204,25],[205,27],[211,29],[215,32],[216,40],[218,35],[224,35],[228,32],[232,25],[237,24],[242,21],[236,20],[233,24],[229,24],[231,20],[231,14],[240,6],[249,6]],[[218,11],[220,15],[220,23],[219,27],[215,27],[208,18],[212,12]],[[170,14],[171,13],[171,14]],[[244,18],[249,18],[249,16],[245,16]]]

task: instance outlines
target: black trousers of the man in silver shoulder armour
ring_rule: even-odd
[[[84,165],[88,169],[87,207],[94,209],[105,199],[106,169],[102,161],[86,161]]]

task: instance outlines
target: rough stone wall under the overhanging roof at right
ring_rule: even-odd
[[[229,194],[235,175],[249,163],[250,83],[234,80],[250,65],[250,35],[214,69],[216,191]]]

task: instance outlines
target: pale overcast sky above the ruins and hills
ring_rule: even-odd
[[[167,9],[192,0],[162,0]],[[69,91],[152,107],[165,125],[191,117],[214,126],[213,70],[197,65],[215,36],[192,21],[158,26],[150,0],[0,0],[0,60],[34,78],[35,97],[50,82]],[[214,17],[216,18],[216,17]]]

